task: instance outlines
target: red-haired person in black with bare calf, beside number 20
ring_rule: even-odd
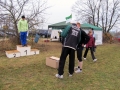
[[[77,27],[80,28],[79,22],[77,23]],[[81,31],[81,41],[79,42],[77,46],[78,66],[75,67],[75,69],[77,69],[75,73],[82,72],[82,66],[83,66],[82,51],[83,51],[84,45],[87,44],[90,40],[90,37],[86,34],[85,31],[83,31],[81,28],[80,28],[80,31]]]

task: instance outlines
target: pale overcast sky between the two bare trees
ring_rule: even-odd
[[[72,13],[71,8],[75,1],[76,0],[48,0],[48,6],[52,7],[47,10],[48,15],[43,28],[47,29],[47,26],[50,24],[65,21],[65,17]]]

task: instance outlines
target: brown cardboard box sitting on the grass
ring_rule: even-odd
[[[59,58],[58,57],[46,57],[46,65],[52,68],[58,68],[59,66]]]

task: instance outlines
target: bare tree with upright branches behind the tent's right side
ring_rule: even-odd
[[[120,0],[78,0],[72,8],[78,20],[86,20],[109,32],[120,20]]]

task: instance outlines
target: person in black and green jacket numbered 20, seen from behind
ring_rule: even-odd
[[[59,61],[58,74],[56,74],[57,78],[63,78],[64,65],[68,54],[69,76],[72,76],[74,73],[75,50],[80,41],[80,30],[75,23],[72,23],[72,26],[68,25],[65,30],[63,30],[61,36],[64,38],[64,43]]]

